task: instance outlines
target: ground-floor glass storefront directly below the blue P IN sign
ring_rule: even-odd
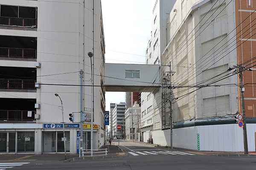
[[[70,132],[65,132],[66,152],[70,152]],[[43,132],[43,152],[64,152],[63,132]]]

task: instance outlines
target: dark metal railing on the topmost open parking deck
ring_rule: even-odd
[[[0,17],[0,25],[37,28],[37,19],[35,19],[35,18],[18,18],[18,17]]]

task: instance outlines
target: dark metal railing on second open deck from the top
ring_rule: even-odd
[[[17,57],[36,59],[36,49],[0,47],[0,57]]]

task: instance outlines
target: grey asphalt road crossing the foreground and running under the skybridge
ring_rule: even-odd
[[[116,144],[116,141],[114,142]],[[117,142],[118,144],[118,142]],[[29,161],[8,170],[255,170],[256,157],[225,157],[171,152],[156,147],[120,142],[125,156],[85,161]],[[133,153],[133,154],[132,154]],[[154,154],[153,154],[154,153]],[[8,162],[5,162],[8,163]],[[25,162],[24,162],[25,163]],[[27,162],[26,162],[27,163]],[[2,166],[3,167],[3,166]],[[1,167],[0,167],[1,169]],[[3,168],[2,168],[3,169]]]

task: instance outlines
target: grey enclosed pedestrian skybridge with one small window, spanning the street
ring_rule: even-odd
[[[105,63],[105,90],[152,92],[160,88],[159,65]]]

